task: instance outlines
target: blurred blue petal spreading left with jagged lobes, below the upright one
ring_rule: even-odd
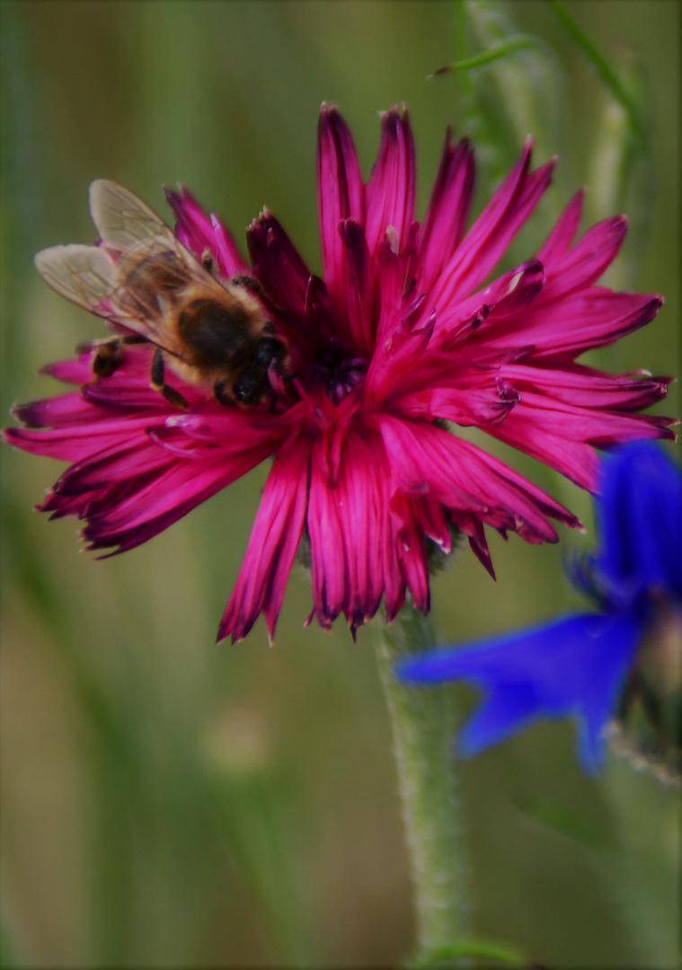
[[[572,715],[579,759],[595,771],[603,759],[604,727],[633,663],[641,625],[635,613],[562,617],[459,648],[429,651],[400,663],[397,676],[415,684],[461,679],[485,698],[460,735],[470,756],[538,718]]]

